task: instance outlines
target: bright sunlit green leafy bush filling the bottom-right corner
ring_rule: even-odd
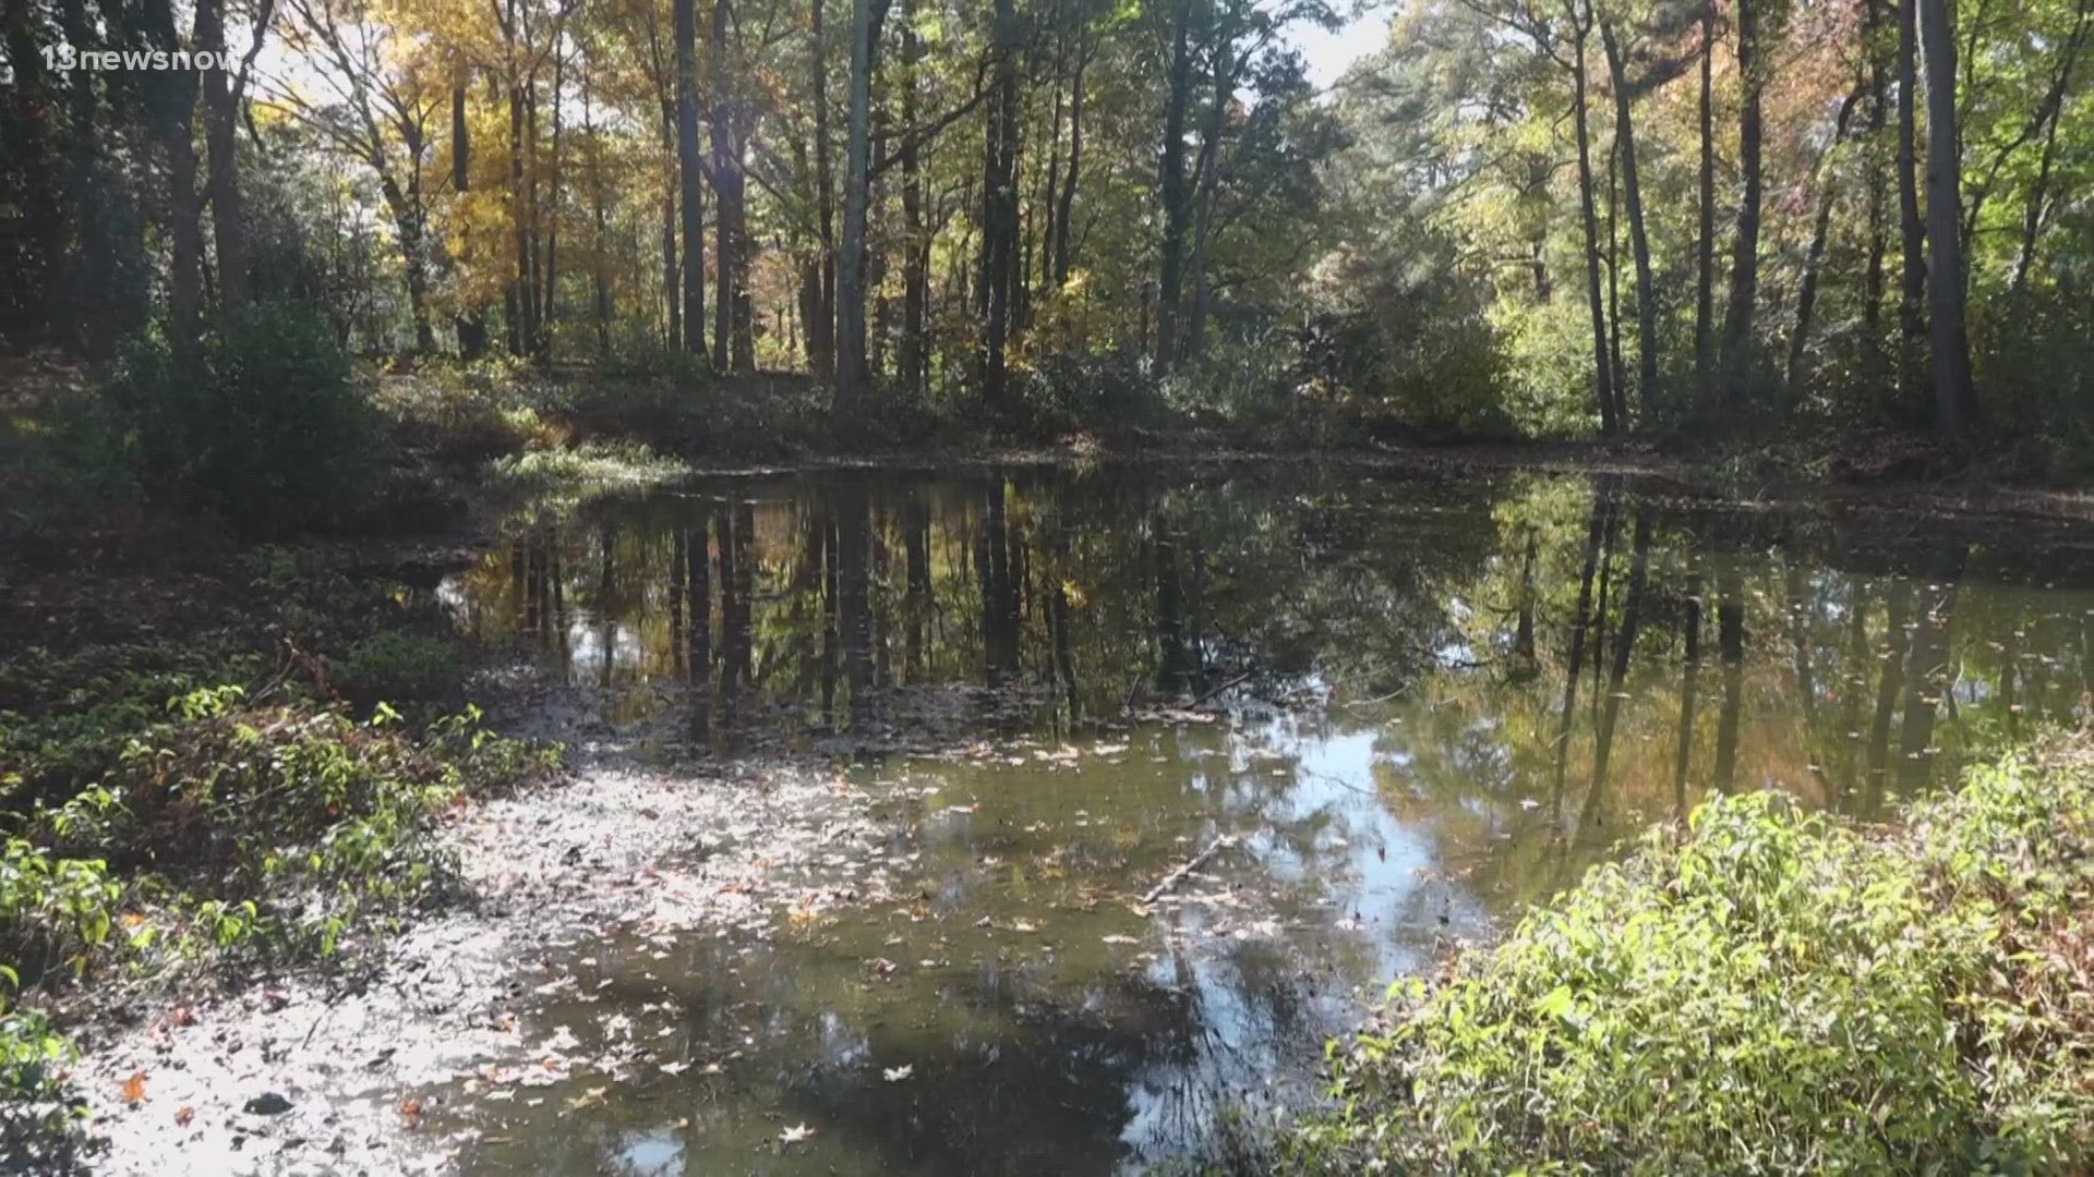
[[[1279,1169],[2084,1171],[2094,746],[1883,829],[1719,798],[1393,997]]]

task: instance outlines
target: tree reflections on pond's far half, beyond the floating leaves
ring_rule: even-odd
[[[861,480],[597,501],[524,528],[465,599],[574,681],[689,685],[701,731],[750,706],[879,723],[951,685],[1030,699],[1055,731],[1244,674],[1397,695],[1411,775],[1478,787],[1464,746],[1485,723],[1522,790],[1491,800],[1539,800],[1577,836],[1705,787],[1874,813],[2071,714],[2086,595],[2033,568],[1870,517],[1669,505],[1619,480]],[[1436,708],[1468,716],[1460,735]]]

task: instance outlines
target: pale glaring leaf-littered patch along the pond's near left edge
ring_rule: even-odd
[[[789,919],[888,898],[890,823],[812,758],[676,773],[578,710],[532,735],[570,743],[570,775],[461,813],[444,842],[463,898],[413,921],[375,968],[84,1024],[73,1074],[103,1146],[92,1169],[446,1171],[471,1133],[438,1127],[442,1095],[417,1091],[465,1081],[532,1100],[576,1068],[660,1062],[530,1037],[517,1009],[578,984],[547,968],[555,957],[614,934],[762,942]]]

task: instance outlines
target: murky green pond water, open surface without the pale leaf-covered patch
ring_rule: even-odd
[[[618,1074],[448,1091],[484,1173],[1175,1156],[1707,790],[1868,817],[2094,685],[2094,536],[1895,503],[848,475],[511,534],[461,624],[670,760],[861,750],[903,901],[551,961],[530,1030]]]

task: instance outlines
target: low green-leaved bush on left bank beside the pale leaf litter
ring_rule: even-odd
[[[331,955],[366,915],[442,884],[448,806],[557,762],[473,708],[415,733],[383,704],[354,720],[230,685],[136,727],[8,743],[25,752],[19,808],[0,815],[0,959],[25,980],[147,949]],[[75,792],[52,800],[67,779]]]

